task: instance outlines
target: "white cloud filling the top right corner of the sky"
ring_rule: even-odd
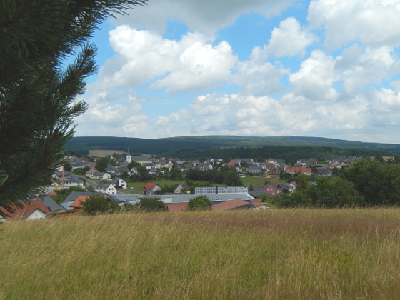
[[[324,29],[333,50],[351,41],[366,46],[400,45],[398,0],[313,0],[307,18],[311,29]]]

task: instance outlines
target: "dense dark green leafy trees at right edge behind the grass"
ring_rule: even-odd
[[[277,207],[367,207],[400,205],[400,164],[355,161],[340,176],[296,177],[296,190],[268,199]]]

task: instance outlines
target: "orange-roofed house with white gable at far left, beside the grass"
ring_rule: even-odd
[[[9,212],[3,207],[0,207],[0,210],[8,215],[4,216],[1,221],[37,220],[44,219],[50,214],[49,209],[44,205],[41,199],[20,201],[19,204],[21,207],[11,204],[11,209],[13,209],[14,212]]]

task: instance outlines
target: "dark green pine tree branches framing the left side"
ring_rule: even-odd
[[[0,1],[0,206],[11,209],[34,193],[60,164],[73,120],[87,109],[76,97],[96,71],[89,44],[96,26],[144,4]]]

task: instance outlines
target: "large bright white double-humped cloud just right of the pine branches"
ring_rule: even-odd
[[[117,55],[101,68],[100,89],[140,86],[154,79],[154,89],[202,89],[228,78],[237,60],[226,41],[213,46],[199,33],[174,41],[152,31],[119,26],[110,31],[110,42]]]

